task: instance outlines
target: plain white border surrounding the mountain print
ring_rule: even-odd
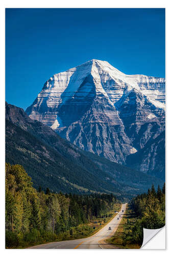
[[[93,0],[93,1],[89,1],[86,0],[85,2],[81,3],[80,1],[76,1],[76,0],[72,0],[72,1],[68,1],[68,0],[62,0],[62,1],[52,1],[52,0],[48,0],[48,1],[36,1],[36,0],[30,0],[29,2],[23,2],[21,0],[3,0],[1,1],[1,13],[0,13],[0,18],[1,18],[1,100],[0,100],[0,109],[1,109],[1,208],[3,208],[1,210],[1,252],[3,254],[12,254],[12,255],[22,255],[24,254],[29,254],[30,250],[19,250],[19,249],[12,249],[12,250],[5,250],[4,246],[5,246],[5,237],[4,237],[4,233],[5,233],[5,215],[4,215],[4,209],[5,209],[5,175],[4,175],[4,163],[5,163],[5,8],[166,8],[166,71],[168,70],[168,48],[167,46],[169,45],[169,33],[168,33],[168,29],[167,29],[167,24],[170,24],[169,22],[169,17],[170,17],[170,13],[169,13],[169,1],[167,0],[155,0],[155,1],[151,1],[151,0],[142,0],[142,1],[126,1],[126,0],[120,0],[117,2],[113,2],[113,1],[101,1],[99,2],[99,0]],[[158,35],[159,36],[159,35]],[[168,131],[169,131],[169,118],[168,118],[168,97],[169,97],[169,89],[168,89],[168,73],[166,72],[166,212],[168,210],[168,196],[167,196],[167,184],[168,184],[168,179],[169,179],[169,175],[168,175],[168,163],[167,163],[167,158],[168,155],[167,153],[169,153],[169,146],[168,146],[168,142],[169,142],[169,136],[168,136]],[[2,207],[3,206],[3,207]],[[166,214],[167,217],[167,214]],[[166,218],[166,226],[168,223],[168,219]],[[161,239],[164,239],[164,237],[160,237],[159,241]],[[166,232],[166,241],[168,241],[169,236],[168,233]],[[166,243],[167,244],[167,243]],[[152,244],[153,246],[153,244]],[[153,247],[152,247],[153,248]],[[157,248],[157,242],[155,242],[155,248]],[[169,250],[168,245],[166,250],[161,250],[161,254],[162,253],[167,253]],[[79,250],[50,250],[48,251],[48,253],[54,254],[56,255],[63,255],[63,254],[70,254],[70,255],[76,255],[79,254]],[[82,255],[86,255],[88,252],[88,254],[93,254],[95,253],[94,250],[90,250],[88,249],[88,251],[86,250],[81,250],[81,254]],[[149,250],[138,250],[136,251],[135,249],[132,250],[121,250],[118,249],[118,251],[114,251],[114,253],[116,254],[122,254],[122,253],[126,253],[127,255],[133,255],[134,253],[145,253],[145,254],[150,254]],[[160,250],[154,250],[153,251],[155,255],[160,255]],[[34,255],[46,255],[46,251],[45,250],[32,250],[31,253]],[[103,255],[102,250],[98,250],[97,253],[100,255]],[[107,254],[112,255],[113,251],[112,250],[107,250]]]

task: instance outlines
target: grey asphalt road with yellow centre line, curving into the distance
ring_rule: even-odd
[[[116,247],[105,243],[104,240],[114,235],[123,215],[125,214],[125,209],[126,204],[123,204],[118,214],[105,227],[89,238],[53,242],[29,247],[28,249],[114,249]],[[109,230],[109,227],[111,227],[111,230]]]

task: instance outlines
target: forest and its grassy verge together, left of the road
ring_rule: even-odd
[[[112,194],[37,191],[21,165],[6,164],[6,248],[88,237],[120,207]]]

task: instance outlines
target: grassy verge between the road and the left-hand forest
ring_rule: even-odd
[[[59,234],[52,234],[52,237],[49,239],[48,237],[46,239],[42,238],[40,241],[34,242],[26,242],[23,241],[23,238],[19,239],[19,246],[15,247],[16,249],[23,249],[28,248],[31,246],[36,246],[40,244],[46,244],[51,242],[59,242],[59,241],[66,241],[66,240],[74,240],[74,239],[82,239],[82,238],[88,238],[90,236],[93,236],[96,232],[98,232],[101,228],[103,228],[111,219],[113,219],[116,216],[116,213],[114,211],[119,211],[122,207],[122,204],[116,203],[113,206],[113,209],[108,211],[106,215],[102,216],[101,218],[93,218],[86,224],[80,224],[76,227],[71,227],[70,230],[67,230],[65,232],[60,232]],[[95,228],[94,228],[95,227]],[[18,236],[20,237],[20,235]]]

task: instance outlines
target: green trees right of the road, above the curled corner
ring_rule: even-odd
[[[165,225],[165,183],[162,189],[158,185],[156,191],[152,185],[152,188],[148,189],[148,193],[133,198],[130,207],[137,218],[135,224],[127,222],[124,243],[141,246],[143,228],[158,229]]]

